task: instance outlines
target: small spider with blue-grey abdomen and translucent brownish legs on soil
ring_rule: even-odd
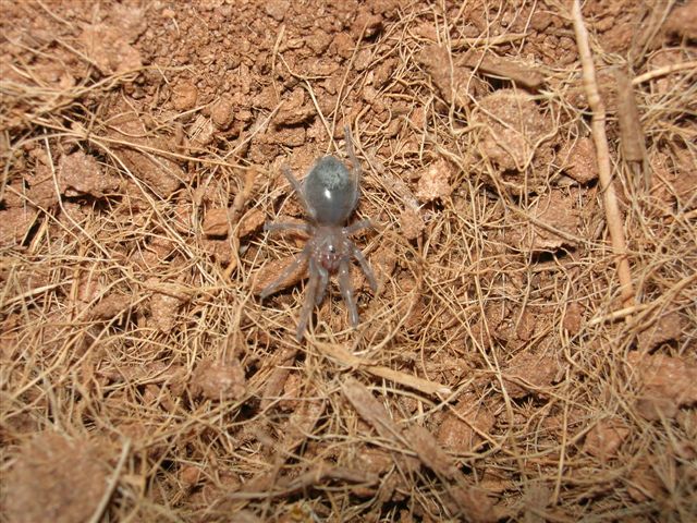
[[[295,338],[302,341],[315,305],[319,305],[327,291],[329,275],[339,273],[339,288],[346,302],[352,327],[358,325],[358,311],[354,290],[351,285],[351,258],[356,258],[374,292],[378,289],[375,273],[363,253],[351,241],[351,234],[371,227],[370,220],[360,220],[344,227],[353,212],[359,197],[360,165],[353,150],[353,141],[348,127],[344,127],[346,154],[352,170],[333,156],[325,156],[317,160],[313,169],[303,180],[297,181],[288,167],[283,174],[297,194],[305,212],[306,223],[271,223],[266,222],[265,231],[296,230],[305,232],[309,239],[303,251],[295,257],[279,277],[265,287],[259,295],[261,300],[270,296],[283,281],[297,268],[308,262],[309,282],[306,297],[301,309]]]

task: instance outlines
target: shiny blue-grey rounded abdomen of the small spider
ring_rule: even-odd
[[[358,202],[358,180],[333,156],[320,158],[303,184],[318,223],[341,224]]]

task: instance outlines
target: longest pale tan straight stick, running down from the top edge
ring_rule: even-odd
[[[598,94],[596,70],[588,44],[588,32],[584,25],[578,0],[574,0],[572,19],[576,33],[576,45],[578,46],[580,64],[584,71],[584,88],[588,97],[588,105],[592,111],[592,139],[596,144],[598,171],[606,205],[606,219],[608,220],[608,228],[610,230],[610,241],[612,242],[612,251],[616,256],[615,264],[617,266],[617,277],[620,278],[620,295],[624,307],[631,307],[634,305],[634,287],[632,285],[632,272],[629,270],[629,262],[626,254],[627,247],[622,226],[624,219],[617,206],[617,197],[614,192],[614,186],[612,185],[610,150],[608,148],[608,137],[606,136],[606,108]],[[631,319],[631,317],[627,319]]]

